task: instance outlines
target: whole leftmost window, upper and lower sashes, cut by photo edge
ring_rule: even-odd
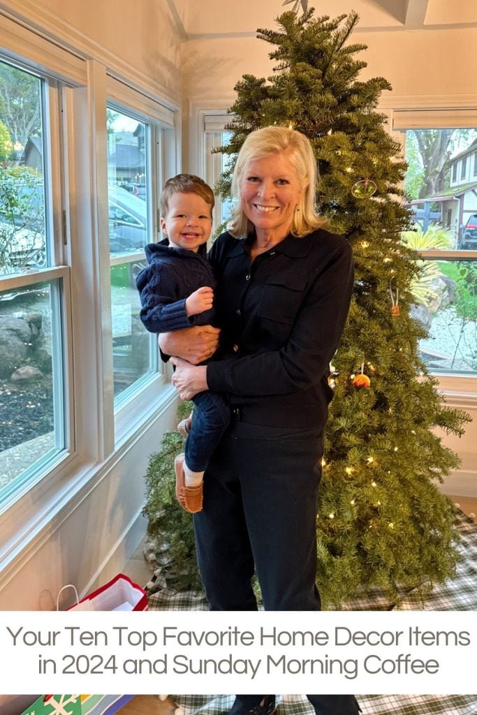
[[[58,89],[0,62],[0,502],[68,442],[64,316],[69,270],[56,265],[46,119]]]

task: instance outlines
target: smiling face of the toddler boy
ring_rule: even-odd
[[[161,228],[170,244],[197,252],[212,230],[212,206],[199,194],[176,192],[169,199],[167,215],[161,218]]]

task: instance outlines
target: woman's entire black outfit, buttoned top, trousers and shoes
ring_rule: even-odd
[[[318,230],[288,236],[250,263],[253,236],[225,233],[210,251],[217,276],[220,359],[210,390],[233,419],[205,473],[194,515],[197,561],[212,610],[319,611],[316,514],[329,363],[353,287],[350,246]],[[237,696],[248,710],[262,696]],[[357,715],[351,695],[308,695],[317,715]]]

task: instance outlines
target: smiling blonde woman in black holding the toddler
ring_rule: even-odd
[[[328,365],[348,313],[353,260],[348,243],[323,230],[315,189],[315,157],[303,134],[285,127],[249,134],[235,164],[230,230],[210,251],[220,359],[190,364],[205,357],[206,340],[211,354],[212,333],[161,340],[164,352],[180,356],[172,358],[172,381],[182,399],[207,389],[230,395],[232,425],[194,517],[212,610],[255,610],[254,569],[267,610],[320,609],[315,520]],[[308,699],[317,715],[358,713],[353,696]],[[262,715],[273,703],[237,696],[232,713]]]

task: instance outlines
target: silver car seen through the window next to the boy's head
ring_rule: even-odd
[[[147,204],[120,187],[110,186],[109,251],[142,250],[147,244]]]

